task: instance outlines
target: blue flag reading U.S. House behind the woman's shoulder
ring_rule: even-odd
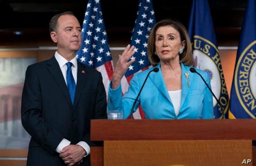
[[[194,67],[204,70],[210,76],[212,91],[224,108],[225,117],[229,110],[229,97],[224,80],[221,60],[217,48],[212,16],[207,0],[193,0],[189,27]],[[222,110],[213,98],[214,118],[222,118]]]

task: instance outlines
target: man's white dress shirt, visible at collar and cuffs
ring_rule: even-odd
[[[57,51],[55,52],[54,56],[55,56],[55,58],[56,58],[56,60],[59,64],[59,67],[60,67],[60,70],[61,70],[62,75],[64,77],[64,80],[67,84],[67,65],[66,65],[66,63],[68,63],[68,61],[67,61],[67,59],[65,59],[64,57],[59,55],[59,53]],[[73,75],[75,83],[76,83],[76,81],[77,81],[77,60],[76,60],[76,57],[74,57],[70,62],[73,64],[71,66],[71,70],[72,70],[72,75]],[[60,150],[63,149],[64,147],[68,146],[70,143],[71,143],[70,141],[68,141],[67,139],[64,138],[59,143],[59,145],[58,145],[58,147],[56,148],[55,151],[60,154]],[[91,152],[90,146],[86,142],[80,141],[80,142],[77,143],[77,145],[80,145],[81,147],[83,147],[84,150],[87,152],[87,154],[85,156],[90,154],[90,152]]]

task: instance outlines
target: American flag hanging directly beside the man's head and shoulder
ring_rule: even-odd
[[[82,43],[76,58],[81,63],[93,67],[101,73],[108,94],[108,85],[114,73],[114,66],[100,0],[88,1],[82,26]]]

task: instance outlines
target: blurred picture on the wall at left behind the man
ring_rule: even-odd
[[[27,66],[36,58],[0,58],[0,149],[27,149],[31,136],[20,118]]]

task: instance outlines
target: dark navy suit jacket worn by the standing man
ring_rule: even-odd
[[[54,56],[27,67],[21,108],[22,125],[32,136],[27,165],[66,165],[55,152],[61,140],[97,146],[90,141],[90,120],[106,117],[106,92],[97,70],[77,62],[73,106]],[[82,165],[90,165],[90,155]]]

